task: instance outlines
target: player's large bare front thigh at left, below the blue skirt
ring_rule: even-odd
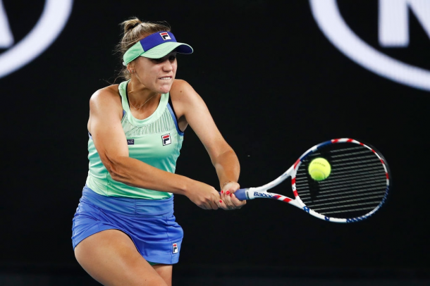
[[[166,286],[130,237],[120,230],[104,230],[85,238],[75,247],[75,256],[82,268],[103,285]]]

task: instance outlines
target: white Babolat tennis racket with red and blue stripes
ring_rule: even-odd
[[[314,158],[325,158],[331,173],[316,181],[308,172]],[[267,192],[291,178],[294,199]],[[261,187],[238,189],[240,199],[277,199],[333,223],[352,223],[369,218],[385,203],[390,189],[385,158],[373,147],[355,139],[332,139],[317,144],[279,178]]]

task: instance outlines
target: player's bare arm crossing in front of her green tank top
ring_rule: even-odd
[[[90,100],[88,130],[102,163],[113,180],[126,185],[188,196],[202,209],[218,209],[215,189],[190,178],[168,173],[128,156],[121,127],[121,101],[115,86],[95,92]],[[190,195],[198,192],[197,196]],[[215,196],[215,198],[214,198]]]

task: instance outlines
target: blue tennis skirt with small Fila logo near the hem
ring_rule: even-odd
[[[73,249],[103,230],[121,230],[149,262],[178,263],[183,230],[173,216],[170,199],[106,197],[85,186],[73,217]]]

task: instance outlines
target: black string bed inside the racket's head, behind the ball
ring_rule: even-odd
[[[323,157],[331,165],[326,180],[308,173],[312,159]],[[302,160],[295,186],[303,203],[324,216],[355,218],[381,204],[388,187],[386,168],[371,149],[353,144],[329,144]]]

